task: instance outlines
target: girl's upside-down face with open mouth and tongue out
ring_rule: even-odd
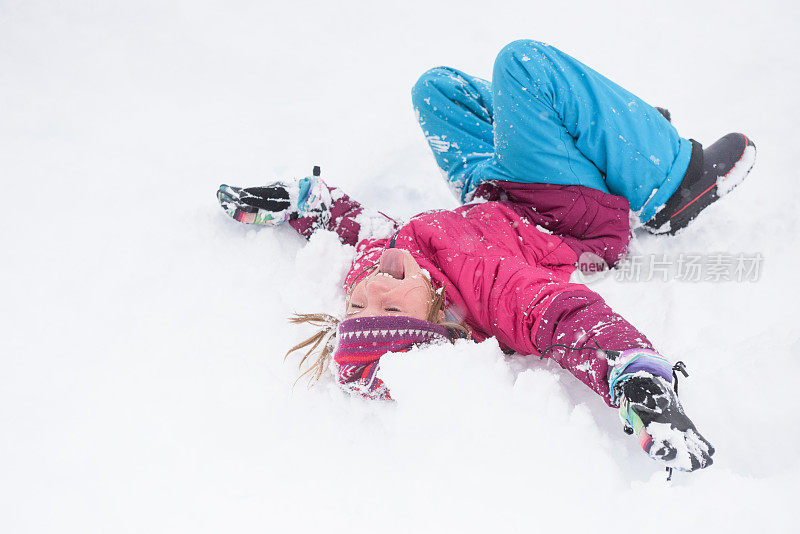
[[[347,302],[347,318],[405,315],[427,319],[431,286],[422,269],[405,250],[387,249],[378,269],[359,281]]]

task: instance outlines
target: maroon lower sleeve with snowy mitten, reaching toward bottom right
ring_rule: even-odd
[[[651,458],[681,471],[712,464],[714,447],[678,400],[673,378],[678,368],[599,295],[587,289],[556,296],[542,315],[535,341],[543,355],[619,407],[625,431],[637,436]]]

